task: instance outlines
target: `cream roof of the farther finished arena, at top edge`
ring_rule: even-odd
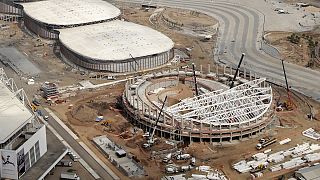
[[[75,25],[108,20],[120,15],[120,10],[102,0],[47,0],[22,3],[24,13],[51,25]]]

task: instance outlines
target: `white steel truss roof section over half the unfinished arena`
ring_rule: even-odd
[[[271,106],[272,89],[256,79],[232,89],[213,91],[166,108],[177,120],[212,125],[242,124],[260,118]]]

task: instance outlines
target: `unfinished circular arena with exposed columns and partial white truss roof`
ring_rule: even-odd
[[[239,78],[238,85],[230,89],[222,83],[228,82],[230,75],[198,73],[200,94],[195,96],[189,75],[192,72],[172,71],[130,79],[122,103],[132,123],[146,130],[153,128],[165,97],[156,127],[161,137],[185,142],[240,140],[272,122],[272,89],[265,79]]]

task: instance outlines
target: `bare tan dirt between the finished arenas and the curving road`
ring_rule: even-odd
[[[151,24],[149,21],[149,17],[153,14],[153,11],[151,10],[145,11],[134,4],[118,3],[117,6],[122,10],[122,18],[134,23],[149,26],[162,32],[173,40],[175,48],[181,49],[187,54],[190,54],[191,61],[182,63],[180,64],[181,66],[195,63],[197,69],[202,65],[203,71],[207,70],[208,64],[210,64],[211,67],[214,67],[212,49],[216,39],[215,34],[213,34],[213,38],[211,40],[203,41],[203,37],[201,38],[188,35],[183,33],[181,30],[167,26],[161,18],[157,18],[155,22],[153,22],[154,24]],[[215,25],[218,23],[217,20],[210,16],[202,13],[194,13],[193,11],[166,8],[164,14],[167,17],[170,17],[173,21],[184,24],[184,27],[201,27]],[[197,19],[197,23],[195,23],[195,19]],[[192,50],[187,51],[186,48],[190,48]]]

